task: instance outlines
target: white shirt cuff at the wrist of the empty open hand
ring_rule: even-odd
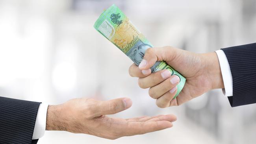
[[[41,103],[39,105],[32,140],[39,139],[45,135],[47,109],[47,104]]]

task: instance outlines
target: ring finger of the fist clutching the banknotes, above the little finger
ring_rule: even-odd
[[[165,92],[173,89],[178,83],[180,82],[180,78],[176,75],[171,76],[171,78],[166,79],[165,81],[161,82],[160,84],[151,87],[148,90],[148,94],[151,98],[157,99]]]

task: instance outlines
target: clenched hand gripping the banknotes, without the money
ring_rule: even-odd
[[[177,96],[178,76],[171,76],[169,70],[152,73],[156,61],[165,61],[186,78],[184,88]],[[139,66],[133,64],[129,68],[132,77],[138,77],[141,88],[150,88],[149,96],[156,99],[156,105],[164,108],[181,105],[212,89],[224,88],[219,60],[215,52],[195,54],[186,50],[165,46],[148,48]]]

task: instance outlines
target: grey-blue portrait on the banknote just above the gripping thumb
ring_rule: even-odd
[[[151,48],[152,46],[150,46],[149,44],[145,44],[142,41],[137,41],[134,46],[127,52],[127,56],[130,57],[130,59],[132,59],[132,61],[136,64],[139,65],[139,63],[141,63],[144,55],[145,55],[145,51],[148,48]]]

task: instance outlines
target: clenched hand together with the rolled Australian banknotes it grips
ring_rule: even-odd
[[[139,78],[141,88],[150,88],[149,95],[158,107],[180,105],[208,90],[224,88],[215,52],[151,48],[152,44],[115,5],[100,15],[94,27],[132,59],[130,75]]]

